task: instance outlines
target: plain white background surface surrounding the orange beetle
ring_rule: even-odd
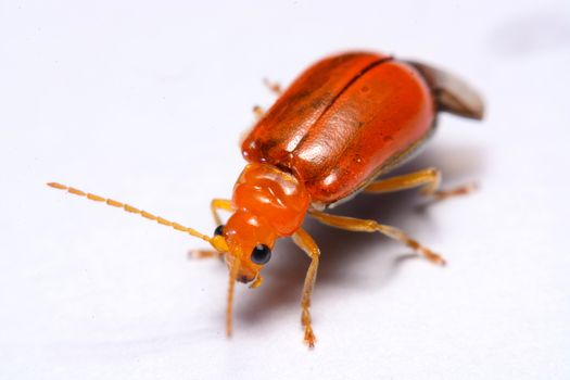
[[[440,268],[380,236],[308,223],[308,259],[278,244],[257,290],[189,261],[182,233],[51,190],[58,180],[215,227],[243,166],[262,78],[370,49],[453,69],[487,117],[445,115],[403,170],[481,189],[421,213],[415,192],[338,213],[404,228]],[[1,379],[568,379],[568,1],[0,2]]]

